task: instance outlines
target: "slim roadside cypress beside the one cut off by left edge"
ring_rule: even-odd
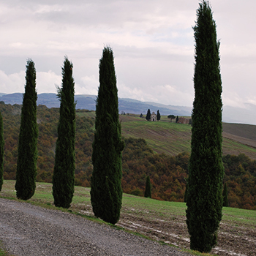
[[[36,69],[29,59],[26,65],[26,86],[21,108],[16,196],[28,200],[34,195],[37,177],[37,91]]]

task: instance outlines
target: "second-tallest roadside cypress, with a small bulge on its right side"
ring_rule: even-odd
[[[94,215],[116,224],[120,217],[121,189],[121,124],[113,51],[103,49],[99,61],[99,91],[96,102],[94,142],[92,144],[91,206]]]

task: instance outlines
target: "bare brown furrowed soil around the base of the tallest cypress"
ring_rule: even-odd
[[[135,217],[132,214],[121,214],[117,224],[128,230],[141,233],[157,241],[164,241],[182,249],[189,249],[189,233],[185,217],[177,217],[169,220],[145,219]],[[218,244],[212,249],[217,255],[256,255],[256,228],[255,227],[234,227],[223,224],[219,227]]]

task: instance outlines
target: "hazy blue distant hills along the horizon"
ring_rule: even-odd
[[[0,101],[5,104],[22,104],[23,94],[0,93]],[[95,110],[95,95],[75,95],[77,109]],[[38,94],[37,105],[46,105],[48,108],[59,108],[59,99],[56,94]],[[148,108],[151,113],[159,110],[163,116],[191,116],[192,107],[163,105],[157,102],[141,102],[137,99],[119,98],[119,113],[146,114]],[[256,124],[256,105],[244,104],[243,108],[230,106],[223,107],[222,121],[236,124]]]

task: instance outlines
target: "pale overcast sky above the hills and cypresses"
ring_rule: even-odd
[[[223,104],[256,104],[256,1],[212,0]],[[115,56],[118,97],[192,106],[197,0],[1,0],[0,92],[23,92],[26,61],[37,92],[56,93],[64,56],[75,94],[97,95],[99,59]]]

